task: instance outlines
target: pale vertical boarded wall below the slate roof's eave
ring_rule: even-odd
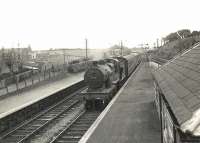
[[[175,143],[174,124],[168,110],[166,102],[161,99],[161,117],[162,117],[162,141],[163,143]]]

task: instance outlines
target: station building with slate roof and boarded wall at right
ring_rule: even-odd
[[[200,44],[154,71],[163,143],[200,142]]]

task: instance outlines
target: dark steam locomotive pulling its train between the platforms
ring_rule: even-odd
[[[93,61],[84,74],[88,87],[81,92],[86,109],[104,109],[140,62],[135,54]]]

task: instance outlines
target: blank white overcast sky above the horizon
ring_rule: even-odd
[[[200,30],[198,0],[0,0],[0,46],[128,47]]]

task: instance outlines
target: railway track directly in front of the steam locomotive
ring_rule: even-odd
[[[98,111],[83,111],[50,143],[78,143],[99,114]]]

